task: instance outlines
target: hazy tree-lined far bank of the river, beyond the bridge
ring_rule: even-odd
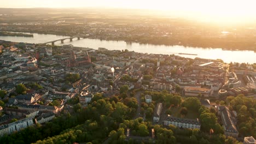
[[[38,34],[54,34],[60,36],[70,37],[75,35],[67,32],[54,32],[54,31],[16,31],[26,33]],[[77,35],[77,34],[76,34]],[[100,39],[100,40],[115,40],[126,41],[126,43],[139,43],[139,44],[152,44],[152,45],[165,45],[165,46],[184,46],[184,47],[201,47],[203,49],[219,49],[220,47],[225,50],[249,50],[256,52],[256,45],[254,39],[236,39],[236,38],[207,38],[207,37],[122,37],[110,35],[86,35],[85,38]]]

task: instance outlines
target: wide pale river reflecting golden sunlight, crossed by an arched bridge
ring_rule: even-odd
[[[24,43],[46,43],[57,39],[67,38],[61,35],[52,34],[37,34],[33,33],[34,37],[8,37],[0,36],[0,40],[24,42]],[[254,51],[226,51],[219,49],[205,49],[200,47],[184,47],[184,46],[166,46],[166,45],[151,45],[131,43],[127,44],[125,41],[112,41],[112,40],[99,40],[99,39],[69,39],[64,41],[64,44],[72,44],[79,47],[90,47],[98,49],[98,47],[105,47],[108,50],[129,50],[142,53],[160,53],[167,55],[179,55],[178,53],[193,53],[195,55],[179,55],[189,58],[207,58],[207,59],[222,59],[226,63],[239,62],[239,63],[256,63],[256,52]],[[55,42],[55,45],[62,45],[61,41]]]

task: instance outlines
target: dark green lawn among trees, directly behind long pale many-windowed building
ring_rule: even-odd
[[[181,118],[190,118],[190,119],[196,119],[199,118],[199,113],[195,111],[188,110],[188,114],[186,116],[182,116],[179,111],[182,107],[171,107],[171,116],[173,117],[181,117]]]

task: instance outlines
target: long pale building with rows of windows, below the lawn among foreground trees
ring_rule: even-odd
[[[164,125],[174,125],[179,128],[186,128],[186,129],[200,129],[201,124],[199,119],[185,119],[185,118],[177,118],[167,115],[164,120]]]

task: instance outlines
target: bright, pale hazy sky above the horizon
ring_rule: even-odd
[[[256,19],[255,0],[0,0],[2,8],[131,8],[179,11],[205,19]],[[167,13],[167,12],[166,12]]]

